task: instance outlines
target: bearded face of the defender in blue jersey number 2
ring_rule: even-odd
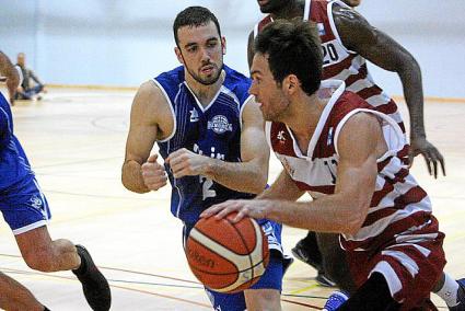
[[[223,67],[225,39],[220,37],[214,23],[181,27],[177,37],[176,56],[187,72],[201,84],[217,82]]]

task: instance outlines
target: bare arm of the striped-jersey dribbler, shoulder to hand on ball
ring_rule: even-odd
[[[237,211],[317,232],[357,233],[368,215],[377,174],[376,158],[386,151],[377,119],[367,114],[352,116],[338,140],[339,165],[335,194],[313,201],[229,200],[208,208],[201,217],[222,218]]]

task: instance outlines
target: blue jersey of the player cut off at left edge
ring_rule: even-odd
[[[26,154],[13,134],[11,108],[0,93],[0,191],[25,177],[34,177]]]

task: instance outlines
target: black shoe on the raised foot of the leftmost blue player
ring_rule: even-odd
[[[95,266],[91,254],[82,245],[75,245],[81,257],[81,266],[72,273],[82,284],[85,300],[94,311],[108,311],[112,306],[112,292],[103,274]]]

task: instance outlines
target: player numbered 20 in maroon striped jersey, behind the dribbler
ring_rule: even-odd
[[[445,174],[443,157],[426,139],[421,71],[415,58],[403,46],[371,26],[363,16],[340,1],[264,0],[257,2],[260,11],[268,15],[255,26],[248,37],[249,65],[254,55],[254,36],[274,19],[301,18],[317,23],[324,50],[323,79],[345,80],[349,91],[358,93],[377,111],[392,116],[405,133],[396,104],[374,83],[368,72],[365,59],[383,69],[397,72],[410,113],[409,162],[411,164],[414,157],[421,153],[427,161],[430,174],[438,176],[438,163]],[[344,2],[350,7],[360,4],[357,0]],[[407,149],[405,151],[407,152]],[[341,255],[337,250],[338,244],[335,234],[315,237],[313,232],[309,232],[307,237],[292,249],[292,253],[318,270],[317,280],[321,284],[333,285],[332,280],[335,280],[345,287],[350,287],[350,281],[344,278],[345,266],[340,263],[344,254]]]

